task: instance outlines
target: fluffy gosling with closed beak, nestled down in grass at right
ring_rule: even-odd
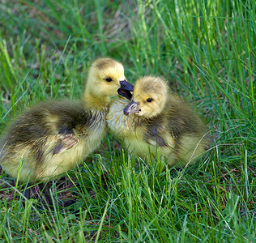
[[[159,151],[169,166],[193,163],[210,143],[198,115],[186,102],[170,95],[160,77],[138,79],[132,101],[115,101],[107,122],[130,152],[153,159]]]

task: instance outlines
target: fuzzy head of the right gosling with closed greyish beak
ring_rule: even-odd
[[[145,76],[136,81],[132,101],[124,109],[126,116],[156,117],[164,109],[169,87],[160,77]]]

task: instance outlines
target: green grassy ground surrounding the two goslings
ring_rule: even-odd
[[[53,182],[59,198],[76,196],[76,213],[37,210],[36,197],[19,207],[20,187],[2,172],[0,239],[255,242],[255,1],[118,2],[1,2],[0,129],[39,100],[79,98],[87,67],[109,56],[131,83],[168,79],[215,143],[198,164],[162,172],[109,135],[72,182]]]

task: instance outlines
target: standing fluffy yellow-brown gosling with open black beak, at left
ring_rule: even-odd
[[[111,96],[130,97],[124,68],[111,58],[92,63],[81,100],[51,100],[33,106],[0,141],[0,165],[25,181],[47,181],[74,168],[100,145]],[[19,164],[21,165],[19,169]]]

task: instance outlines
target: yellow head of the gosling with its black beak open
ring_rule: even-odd
[[[105,102],[117,92],[130,100],[133,85],[126,81],[124,67],[112,58],[98,58],[90,67],[85,96],[95,96]]]

